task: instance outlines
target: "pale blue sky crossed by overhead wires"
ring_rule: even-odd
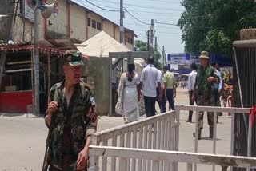
[[[94,10],[110,21],[119,24],[120,20],[120,0],[79,0],[87,8]],[[165,46],[166,54],[184,52],[182,45],[182,30],[175,26],[184,8],[181,6],[182,0],[123,0],[124,8],[129,12],[124,18],[124,26],[134,30],[138,38],[146,42],[146,30],[150,29],[151,19],[155,23],[154,36],[158,37],[158,50],[162,53],[162,46]],[[90,4],[93,3],[96,6]],[[98,8],[100,6],[106,10]],[[111,10],[111,11],[109,11]],[[112,11],[114,10],[114,11]],[[116,11],[117,10],[117,11]],[[132,16],[134,17],[132,17]]]

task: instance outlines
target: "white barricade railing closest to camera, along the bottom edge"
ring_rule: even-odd
[[[192,171],[190,164],[203,164],[203,165],[220,165],[223,171],[226,171],[228,166],[235,166],[239,168],[255,168],[256,157],[238,157],[232,155],[217,155],[206,153],[186,153],[167,150],[156,149],[134,149],[123,147],[105,147],[105,146],[90,146],[90,157],[120,157],[125,162],[122,163],[120,171],[128,171],[126,166],[130,165],[129,160],[148,160],[152,162],[152,169],[146,169],[148,171],[162,171],[166,169],[160,169],[159,165],[162,162],[185,162],[187,163],[187,171]],[[90,160],[92,161],[92,160]],[[97,166],[90,167],[89,171],[98,171]],[[141,171],[142,169],[136,167],[131,169],[132,171]],[[168,169],[175,170],[177,169]]]

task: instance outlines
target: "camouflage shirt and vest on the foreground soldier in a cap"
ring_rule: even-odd
[[[90,89],[83,82],[75,85],[67,105],[64,83],[65,80],[50,89],[50,101],[58,102],[58,111],[53,113],[50,122],[47,156],[50,165],[57,168],[62,168],[63,155],[70,155],[70,160],[76,161],[86,144],[86,137],[97,129],[97,113]]]

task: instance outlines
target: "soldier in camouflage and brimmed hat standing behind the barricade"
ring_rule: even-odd
[[[194,94],[192,101],[197,97],[197,105],[214,106],[214,82],[218,83],[219,78],[215,73],[214,68],[209,64],[209,54],[202,51],[200,55],[200,62],[202,66],[198,68],[198,74],[194,83]],[[214,133],[214,113],[207,113],[210,138],[213,138]],[[199,113],[198,121],[198,140],[201,139],[201,132],[203,128],[203,112]],[[195,133],[194,133],[195,136]]]

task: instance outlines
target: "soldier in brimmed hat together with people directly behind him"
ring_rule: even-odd
[[[202,51],[200,55],[201,66],[197,70],[197,66],[191,64],[191,73],[188,78],[188,90],[190,105],[202,106],[221,106],[220,95],[223,89],[222,78],[224,74],[220,71],[220,62],[212,63],[210,65],[209,54],[206,51]],[[192,122],[193,111],[189,112],[189,117],[186,122]],[[201,139],[201,133],[203,128],[203,115],[204,112],[199,113],[198,120],[198,140]],[[221,116],[222,113],[218,113]],[[209,125],[210,138],[214,136],[214,113],[207,112],[207,121]],[[195,136],[196,133],[194,133]]]

